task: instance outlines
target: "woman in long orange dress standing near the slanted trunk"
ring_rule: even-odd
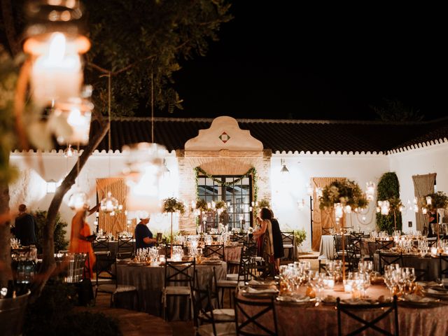
[[[89,211],[90,214],[94,212],[92,210]],[[75,216],[73,216],[73,219],[71,220],[69,252],[87,253],[89,255],[89,259],[85,262],[87,269],[89,269],[89,274],[85,274],[85,277],[87,277],[88,279],[92,279],[93,265],[96,259],[92,248],[92,241],[94,241],[95,235],[90,235],[90,227],[85,221],[86,216],[87,211],[80,210],[75,214]]]

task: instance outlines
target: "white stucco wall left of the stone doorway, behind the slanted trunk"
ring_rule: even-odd
[[[160,195],[162,198],[176,197],[179,190],[179,167],[175,153],[167,153],[166,160],[170,174],[161,181]],[[109,176],[122,176],[123,169],[126,167],[125,162],[125,155],[118,151],[111,155],[104,151],[102,153],[96,151],[90,156],[76,180],[81,190],[90,195],[90,207],[94,207],[97,202],[97,196],[95,194],[96,179],[107,178]],[[45,181],[51,179],[59,182],[62,181],[75,163],[75,157],[65,158],[62,152],[11,153],[10,164],[18,167],[20,176],[18,181],[10,186],[10,207],[17,209],[18,204],[25,203],[31,211],[36,209],[48,210],[53,194],[46,193]],[[41,169],[41,165],[43,169]],[[66,193],[59,209],[62,220],[69,223],[67,239],[70,235],[71,218],[73,217],[73,211],[67,204],[70,195],[75,189],[76,186],[73,186]],[[94,219],[93,214],[87,218],[87,222],[92,231],[94,230]],[[175,216],[174,230],[179,230],[178,222],[179,219]],[[170,218],[168,216],[159,214],[151,216],[149,226],[153,232],[163,232],[167,230],[169,223]]]

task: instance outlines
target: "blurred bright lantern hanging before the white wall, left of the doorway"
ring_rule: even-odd
[[[146,142],[123,146],[128,166],[124,172],[128,211],[161,211],[159,183],[166,151],[164,146]]]

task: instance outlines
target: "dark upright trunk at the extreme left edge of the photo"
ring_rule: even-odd
[[[0,186],[0,214],[9,214],[9,188],[8,185]],[[13,279],[11,272],[10,251],[10,223],[9,216],[4,216],[5,221],[0,222],[0,288],[8,285],[8,280]]]

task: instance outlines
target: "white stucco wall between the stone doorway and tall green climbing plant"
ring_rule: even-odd
[[[285,160],[289,170],[288,176],[282,176],[280,173],[281,159]],[[302,248],[309,250],[311,215],[306,185],[311,182],[311,178],[346,177],[358,182],[360,188],[365,190],[365,183],[372,181],[376,184],[385,172],[389,172],[386,155],[274,153],[271,160],[272,209],[283,227],[307,231],[307,241]],[[300,210],[297,201],[302,199],[307,207]],[[366,223],[358,221],[356,214],[352,214],[353,226],[356,228],[356,225],[359,225],[365,232],[374,229],[374,211],[374,202],[371,202]]]

